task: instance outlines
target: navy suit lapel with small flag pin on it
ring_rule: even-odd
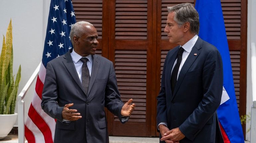
[[[199,49],[201,49],[202,47],[202,40],[200,39],[200,37],[198,37],[194,47],[192,48],[188,58],[186,59],[184,65],[181,68],[174,92],[173,92],[173,96],[172,99],[174,98],[174,96],[176,95],[178,89],[181,86],[181,83],[186,75],[186,73],[188,72],[188,70],[190,69],[191,65],[193,64],[193,62],[195,61],[195,59],[199,56],[200,52],[198,51]]]

